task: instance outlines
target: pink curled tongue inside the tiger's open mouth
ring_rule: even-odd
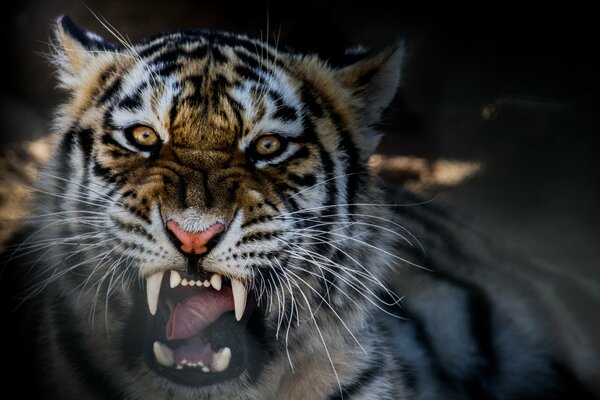
[[[167,322],[167,340],[188,339],[196,336],[223,313],[233,311],[231,288],[223,286],[221,291],[204,289],[183,302],[168,302],[171,315]]]

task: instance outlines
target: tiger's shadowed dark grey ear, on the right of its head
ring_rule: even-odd
[[[346,65],[339,68],[337,74],[341,83],[358,98],[360,118],[367,125],[377,123],[394,98],[404,54],[402,42],[376,53],[361,48],[346,52]]]

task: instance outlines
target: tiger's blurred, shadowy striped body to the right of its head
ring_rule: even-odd
[[[401,243],[414,267],[392,279],[403,296],[397,345],[414,367],[415,390],[457,399],[596,398],[597,283],[398,193],[396,204],[407,207],[397,219],[422,246]]]

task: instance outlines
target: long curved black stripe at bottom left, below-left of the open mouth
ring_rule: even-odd
[[[97,364],[90,349],[86,347],[83,339],[78,335],[74,326],[73,311],[69,310],[67,300],[57,297],[52,307],[55,321],[58,346],[62,353],[71,362],[74,368],[71,373],[81,378],[81,381],[90,388],[90,393],[98,393],[106,399],[122,399],[123,388],[117,387],[115,377],[109,376],[99,364]],[[73,379],[74,381],[76,379]]]

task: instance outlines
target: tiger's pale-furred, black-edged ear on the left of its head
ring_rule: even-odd
[[[55,60],[64,72],[78,74],[87,65],[103,54],[114,54],[120,50],[116,44],[101,36],[83,30],[63,15],[56,24],[58,41]]]

